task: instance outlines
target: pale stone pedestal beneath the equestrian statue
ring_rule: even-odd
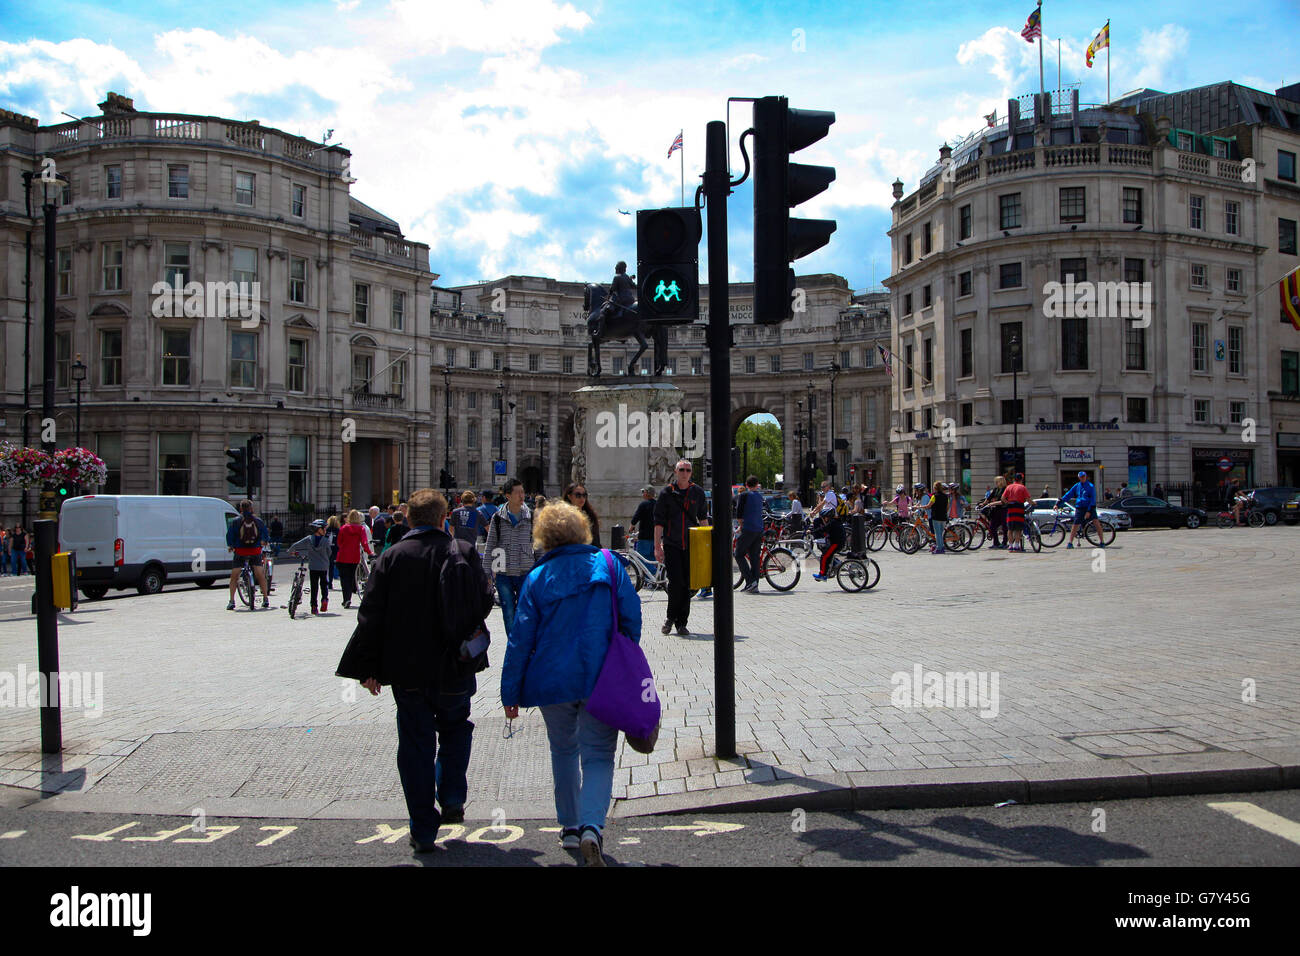
[[[607,548],[615,524],[628,531],[645,485],[663,488],[680,458],[703,455],[703,412],[684,412],[681,389],[662,382],[586,385],[571,395],[569,481],[586,488]]]

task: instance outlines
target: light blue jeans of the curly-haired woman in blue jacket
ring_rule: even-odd
[[[585,705],[586,701],[569,701],[541,708],[551,744],[555,816],[564,829],[603,830],[614,792],[619,731],[586,713]]]

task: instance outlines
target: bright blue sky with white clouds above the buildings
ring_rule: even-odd
[[[439,284],[507,273],[603,278],[634,260],[634,216],[688,199],[703,130],[728,96],[784,94],[832,109],[798,155],[837,181],[801,213],[838,221],[800,272],[854,289],[888,272],[889,183],[915,189],[939,146],[1037,88],[1017,3],[623,3],[326,0],[83,4],[0,0],[0,107],[58,122],[107,90],[136,108],[256,118],[352,150],[354,194],[432,247]],[[1143,3],[1112,10],[1046,0],[1046,85],[1105,99],[1105,53],[1083,49],[1110,16],[1112,94],[1223,79],[1273,91],[1300,79],[1280,36],[1294,0]],[[733,134],[749,125],[736,104]],[[733,135],[734,143],[734,135]],[[733,148],[738,176],[741,160]],[[749,186],[729,207],[731,273],[751,272]],[[703,250],[702,250],[703,260]],[[701,264],[703,269],[703,261]]]

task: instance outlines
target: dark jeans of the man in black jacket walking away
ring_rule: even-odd
[[[398,704],[398,775],[411,814],[411,836],[417,843],[438,838],[443,809],[464,806],[469,791],[469,749],[474,724],[469,701],[477,682],[469,676],[448,684],[441,693],[433,687],[393,687]]]

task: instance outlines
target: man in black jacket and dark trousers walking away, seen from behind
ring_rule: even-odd
[[[408,510],[411,532],[370,568],[337,674],[360,680],[372,695],[393,687],[410,839],[422,853],[436,848],[443,821],[464,819],[474,730],[469,701],[486,650],[467,654],[477,648],[462,645],[485,640],[493,598],[473,544],[442,531],[446,498],[424,488],[411,496]]]

